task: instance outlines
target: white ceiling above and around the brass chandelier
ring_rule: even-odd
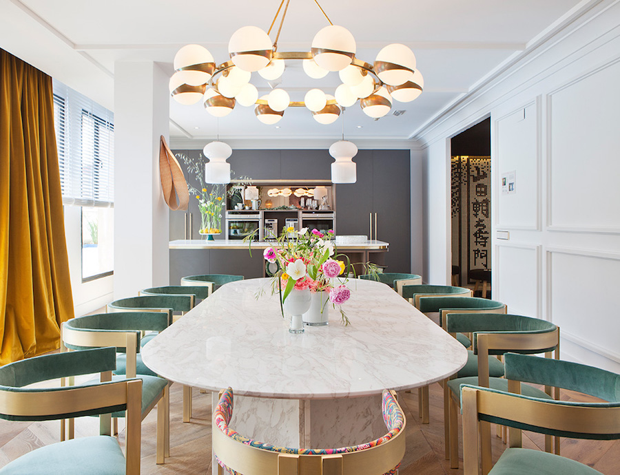
[[[359,103],[347,109],[347,138],[412,138],[477,83],[594,1],[323,0],[331,21],[355,36],[358,58],[372,63],[384,45],[404,43],[415,52],[424,75],[420,98],[394,102],[393,110],[405,111],[401,116],[372,120]],[[279,4],[280,0],[0,0],[0,47],[114,110],[116,61],[156,61],[172,75],[178,48],[199,43],[223,63],[231,34],[244,25],[267,30]],[[325,25],[313,0],[291,0],[278,50],[309,50],[314,34]],[[267,94],[267,82],[256,73],[253,82]],[[287,65],[282,87],[293,100],[302,100],[307,89],[322,87],[333,94],[339,83],[338,73],[310,79],[294,61]],[[200,104],[182,106],[171,99],[170,118],[173,138],[212,138],[218,127]],[[342,117],[320,125],[306,109],[291,108],[278,125],[279,129],[263,125],[252,108],[237,106],[219,120],[220,138],[335,138],[341,134]]]

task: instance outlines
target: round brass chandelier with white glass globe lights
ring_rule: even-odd
[[[355,38],[349,30],[334,25],[317,0],[314,0],[329,25],[322,28],[308,52],[280,52],[278,39],[290,0],[282,0],[269,30],[244,26],[234,32],[228,44],[230,61],[216,65],[211,53],[200,45],[186,45],[174,57],[174,74],[169,88],[181,104],[191,105],[202,100],[209,114],[227,116],[238,104],[254,107],[260,122],[273,125],[282,119],[288,107],[306,107],[321,124],[338,119],[344,107],[360,101],[367,116],[380,118],[389,113],[393,100],[413,101],[420,96],[424,78],[416,69],[415,55],[406,45],[386,45],[375,58],[366,63],[355,56]],[[269,34],[284,6],[276,40]],[[253,72],[267,81],[275,81],[285,72],[287,61],[302,61],[304,72],[311,78],[322,78],[338,72],[342,84],[333,95],[312,88],[303,101],[291,101],[285,89],[272,89],[259,97],[253,85]]]

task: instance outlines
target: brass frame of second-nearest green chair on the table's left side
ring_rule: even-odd
[[[63,349],[68,350],[66,345],[81,346],[85,348],[104,348],[114,346],[124,348],[127,354],[125,377],[136,377],[136,355],[140,345],[140,330],[98,330],[95,328],[74,328],[71,321],[65,321],[61,328],[61,341]],[[110,379],[112,375],[110,374]],[[165,463],[165,457],[170,456],[170,427],[169,427],[169,386],[163,388],[160,394],[145,409],[143,417],[157,405],[157,429],[156,429],[156,463]],[[72,437],[72,427],[70,438]]]

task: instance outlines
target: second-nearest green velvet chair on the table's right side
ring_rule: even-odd
[[[501,368],[502,363],[494,355],[519,352],[527,355],[545,353],[546,357],[552,357],[552,353],[555,352],[555,358],[559,359],[559,328],[550,321],[523,315],[451,313],[446,316],[446,330],[453,337],[456,337],[457,332],[468,332],[473,335],[473,350],[469,350],[465,368],[444,385],[446,454],[450,458],[450,466],[458,468],[459,386],[471,384],[508,390],[508,381],[500,377],[504,373],[504,368]],[[497,374],[493,365],[499,365],[502,374]],[[524,394],[532,397],[543,399],[551,397],[551,388],[546,388],[548,392],[544,392],[533,386],[524,385],[522,390]],[[546,444],[547,449],[551,450],[550,438],[546,440]]]

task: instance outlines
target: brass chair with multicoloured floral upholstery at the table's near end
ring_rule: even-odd
[[[406,420],[395,392],[384,390],[383,419],[388,432],[379,439],[335,449],[295,449],[276,447],[248,439],[229,427],[233,413],[233,391],[223,391],[213,415],[213,450],[218,474],[224,469],[238,475],[272,475],[294,472],[299,475],[320,472],[340,475],[395,474],[405,451]],[[302,459],[306,460],[302,463]],[[313,467],[304,472],[304,467]],[[297,469],[299,468],[299,472]]]

